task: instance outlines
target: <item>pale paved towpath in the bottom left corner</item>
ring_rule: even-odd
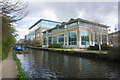
[[[13,60],[12,52],[9,52],[8,58],[0,62],[2,63],[2,78],[17,78],[17,65]]]

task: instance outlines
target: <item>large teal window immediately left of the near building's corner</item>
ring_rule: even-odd
[[[77,45],[77,31],[69,32],[69,45]]]

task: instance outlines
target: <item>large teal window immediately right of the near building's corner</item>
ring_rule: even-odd
[[[89,35],[90,33],[88,31],[81,31],[81,44],[82,45],[90,45]]]

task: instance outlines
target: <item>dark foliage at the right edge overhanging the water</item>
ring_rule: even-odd
[[[120,46],[110,47],[107,57],[111,60],[120,61]]]

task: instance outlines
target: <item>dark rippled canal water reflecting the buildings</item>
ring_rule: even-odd
[[[29,78],[118,78],[120,65],[79,56],[28,49],[17,54]]]

